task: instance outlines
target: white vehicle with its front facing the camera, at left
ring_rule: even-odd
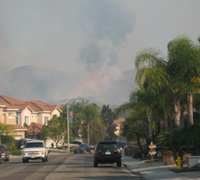
[[[44,141],[32,140],[26,142],[22,151],[22,162],[27,163],[30,159],[41,159],[42,162],[48,161],[48,149]]]

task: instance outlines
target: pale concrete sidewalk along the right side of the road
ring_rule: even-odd
[[[174,173],[169,169],[176,168],[176,165],[163,165],[162,162],[145,163],[145,161],[139,161],[123,155],[122,164],[148,180],[200,180],[200,171]]]

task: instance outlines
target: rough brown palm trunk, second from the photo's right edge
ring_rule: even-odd
[[[174,124],[176,126],[180,126],[181,107],[180,107],[180,100],[178,98],[178,90],[174,91],[174,101],[172,105],[173,105]]]

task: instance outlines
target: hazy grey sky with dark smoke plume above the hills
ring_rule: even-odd
[[[76,95],[106,89],[134,69],[137,52],[154,47],[167,56],[179,35],[197,42],[199,8],[199,0],[0,0],[0,72],[79,72]]]

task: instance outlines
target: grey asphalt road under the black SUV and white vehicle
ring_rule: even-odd
[[[0,180],[130,180],[134,179],[125,167],[99,164],[93,167],[91,154],[49,154],[49,161],[22,163],[21,157],[10,157],[0,165]],[[137,178],[138,179],[138,178]]]

